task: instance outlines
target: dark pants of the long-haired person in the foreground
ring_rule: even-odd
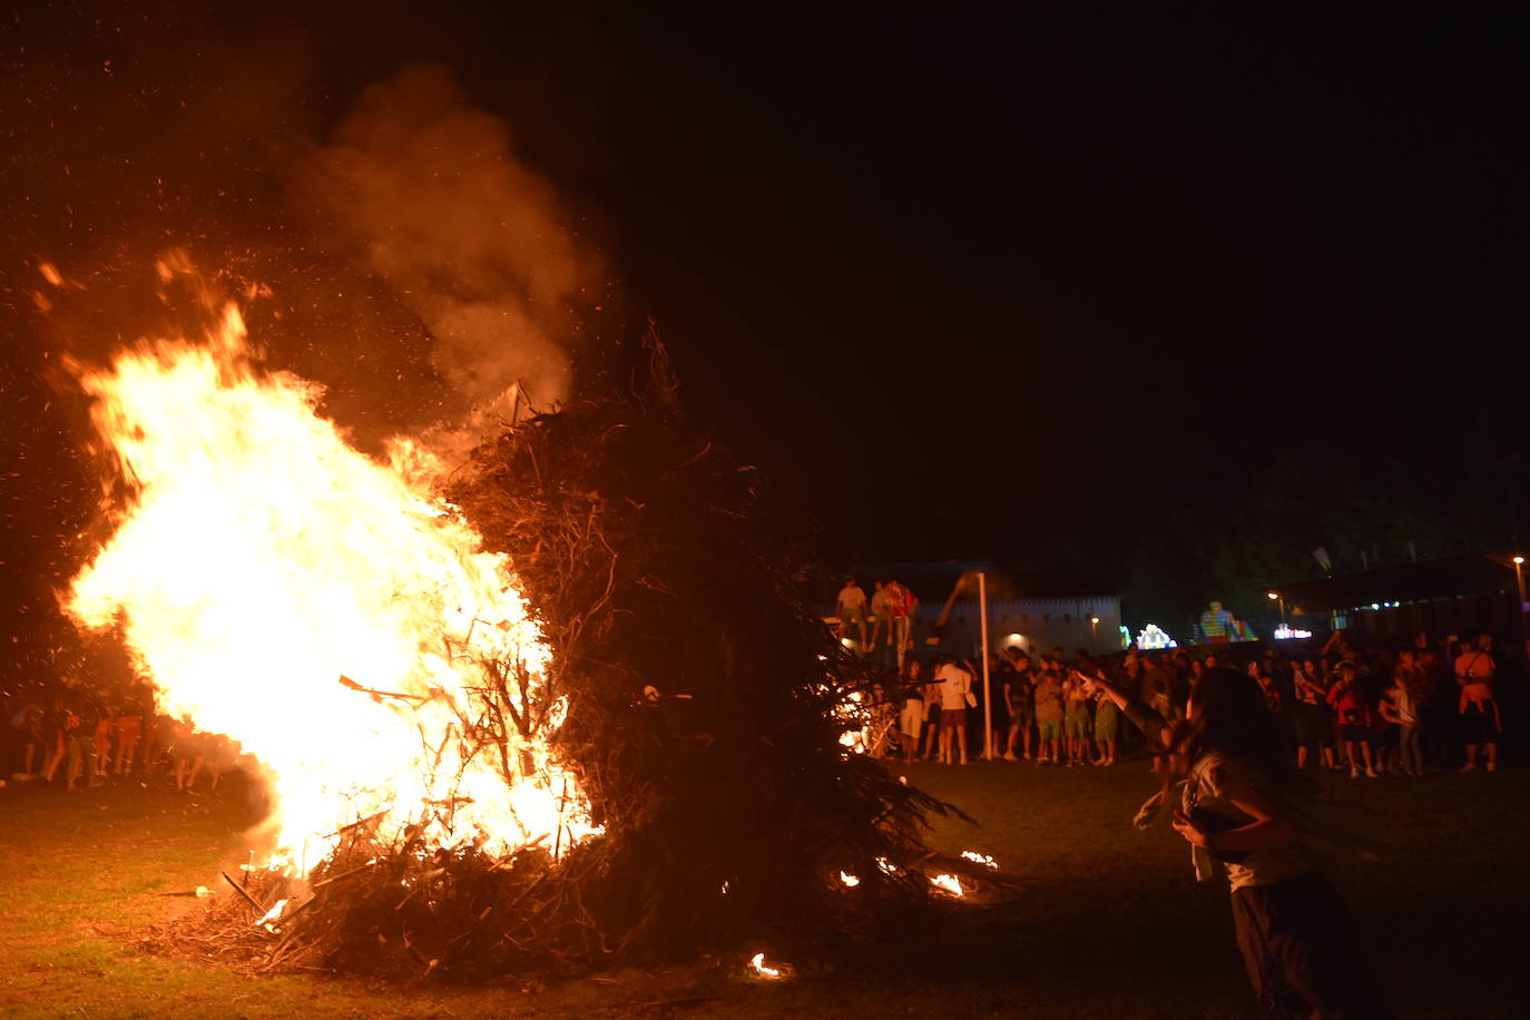
[[[1233,925],[1264,1015],[1386,1015],[1349,911],[1322,876],[1235,890]]]

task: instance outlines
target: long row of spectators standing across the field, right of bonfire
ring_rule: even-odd
[[[1345,632],[1316,650],[1210,645],[1131,648],[1097,662],[1062,648],[1031,656],[1007,648],[990,662],[991,705],[984,710],[981,671],[972,659],[909,656],[877,694],[881,739],[874,752],[904,760],[965,765],[991,755],[1048,766],[1111,766],[1123,742],[1120,713],[1102,684],[1131,691],[1164,720],[1183,719],[1196,681],[1212,668],[1253,677],[1300,769],[1360,778],[1421,775],[1426,769],[1498,769],[1504,705],[1518,707],[1527,685],[1527,645],[1510,655],[1490,635],[1359,644]],[[1082,668],[1088,664],[1088,668]],[[1097,673],[1105,670],[1105,673]],[[1513,711],[1510,711],[1513,714]]]

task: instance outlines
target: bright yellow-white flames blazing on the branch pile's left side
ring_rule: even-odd
[[[548,751],[562,707],[531,711],[548,648],[505,557],[433,495],[442,465],[401,439],[387,462],[353,450],[320,387],[257,367],[233,304],[205,343],[141,343],[80,381],[135,495],[67,609],[121,616],[159,708],[260,760],[294,867],[373,815],[382,838],[419,824],[490,852],[594,830]],[[490,752],[494,673],[531,725]]]

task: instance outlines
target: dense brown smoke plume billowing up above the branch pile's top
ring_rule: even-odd
[[[301,187],[419,317],[467,407],[516,382],[543,407],[568,395],[575,309],[594,303],[600,268],[505,122],[447,72],[416,66],[369,87]]]

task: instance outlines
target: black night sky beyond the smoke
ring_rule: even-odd
[[[285,40],[320,130],[405,61],[451,67],[831,557],[1109,572],[1276,448],[1518,414],[1512,21],[256,6],[124,17],[107,49]],[[67,8],[8,60],[67,52]]]

